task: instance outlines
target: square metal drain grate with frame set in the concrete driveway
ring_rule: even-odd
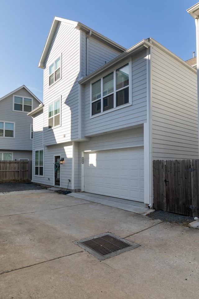
[[[74,243],[99,260],[109,259],[140,246],[110,232],[74,241]]]

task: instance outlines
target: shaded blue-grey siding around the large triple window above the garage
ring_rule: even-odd
[[[121,106],[120,109],[90,118],[90,83],[85,85],[85,106],[82,106],[82,109],[84,109],[85,129],[84,131],[82,130],[82,136],[131,128],[146,122],[146,62],[146,51],[132,57],[132,105],[130,106]],[[113,69],[106,73],[111,71]]]

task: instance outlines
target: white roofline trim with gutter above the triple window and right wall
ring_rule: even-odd
[[[148,38],[147,40],[141,40],[139,43],[135,44],[134,46],[132,46],[131,48],[127,49],[122,54],[120,54],[117,57],[113,58],[111,61],[109,61],[108,63],[104,64],[103,66],[101,66],[100,68],[98,68],[97,70],[95,70],[94,72],[90,73],[88,76],[80,79],[78,81],[78,83],[79,84],[86,83],[86,82],[90,81],[91,78],[99,76],[106,69],[114,66],[120,60],[125,59],[125,58],[131,56],[133,53],[135,53],[137,51],[140,51],[143,48],[150,48],[150,47],[153,47],[154,45],[156,47],[158,47],[159,49],[161,49],[162,51],[164,51],[165,53],[167,53],[169,56],[173,57],[178,62],[182,63],[184,66],[186,66],[186,68],[189,68],[192,72],[197,73],[196,69],[194,69],[188,63],[186,63],[183,59],[179,58],[177,55],[175,55],[170,50],[168,50],[167,48],[165,48],[163,45],[161,45],[160,43],[158,43],[156,40],[154,40],[152,38]]]

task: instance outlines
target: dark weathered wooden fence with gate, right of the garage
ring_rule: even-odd
[[[154,208],[199,215],[199,160],[153,161]]]

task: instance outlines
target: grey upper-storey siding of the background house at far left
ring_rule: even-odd
[[[22,88],[15,92],[17,96],[32,97]],[[32,151],[32,139],[30,139],[30,124],[32,117],[27,112],[12,111],[13,95],[0,101],[0,121],[15,122],[15,138],[0,138],[0,148],[6,150]],[[33,109],[39,106],[38,101],[33,98]]]

